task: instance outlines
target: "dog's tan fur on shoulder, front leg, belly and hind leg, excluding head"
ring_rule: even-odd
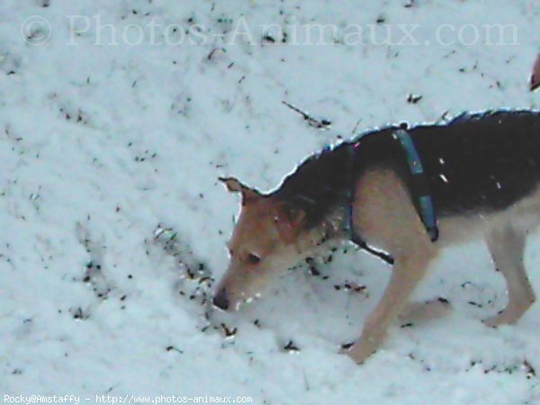
[[[400,314],[441,247],[487,238],[491,255],[509,288],[507,308],[486,320],[488,326],[517,321],[536,300],[523,266],[523,248],[527,231],[535,228],[540,219],[540,193],[508,211],[442,219],[436,244],[430,242],[405,186],[390,170],[374,171],[359,180],[354,212],[356,230],[368,243],[385,248],[395,259],[390,283],[366,320],[362,338],[347,350],[357,363],[381,345],[388,326]]]

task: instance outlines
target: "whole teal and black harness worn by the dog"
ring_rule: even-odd
[[[396,139],[398,142],[400,142],[401,148],[403,148],[403,151],[405,153],[405,157],[407,158],[407,163],[410,169],[410,174],[412,175],[412,184],[411,184],[411,193],[412,198],[415,202],[415,206],[417,208],[417,211],[419,211],[419,216],[422,222],[424,223],[424,226],[426,227],[428,231],[428,235],[431,238],[432,242],[437,241],[438,238],[438,228],[437,228],[437,217],[435,214],[435,209],[433,205],[433,200],[431,198],[431,194],[429,193],[429,183],[428,183],[428,177],[426,175],[426,172],[424,171],[424,166],[422,166],[422,162],[419,157],[419,152],[417,148],[414,145],[414,141],[410,137],[410,133],[400,128],[398,130],[395,130],[392,133],[393,139]],[[351,156],[351,166],[354,166],[354,160],[355,160],[355,149],[358,146],[358,142],[352,144],[349,148],[350,150],[350,156]],[[353,225],[353,205],[354,205],[354,194],[353,190],[355,187],[354,184],[354,178],[355,175],[353,173],[354,171],[351,170],[351,186],[348,191],[348,201],[349,201],[349,209],[347,210],[347,218],[346,218],[346,230],[350,233],[350,239],[360,248],[364,249],[368,253],[379,257],[383,259],[386,263],[389,265],[393,265],[394,259],[392,256],[390,256],[388,253],[383,252],[381,250],[378,250],[374,247],[371,247],[365,242],[363,238],[361,238],[359,235],[356,234],[355,228]]]

